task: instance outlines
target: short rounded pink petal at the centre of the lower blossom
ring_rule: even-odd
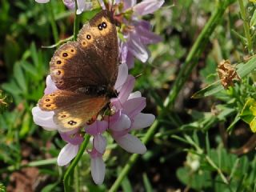
[[[111,131],[123,131],[130,129],[130,118],[126,114],[121,114],[118,120],[114,123],[110,122]]]

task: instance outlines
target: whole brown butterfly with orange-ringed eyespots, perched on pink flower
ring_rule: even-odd
[[[54,110],[60,130],[84,126],[115,96],[118,74],[118,37],[107,10],[96,14],[79,31],[77,42],[67,42],[50,61],[50,77],[59,90],[38,102]]]

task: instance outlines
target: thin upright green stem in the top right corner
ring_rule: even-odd
[[[252,41],[251,41],[251,37],[250,37],[250,26],[249,26],[248,17],[246,14],[246,8],[243,5],[243,0],[238,0],[238,2],[239,2],[240,12],[241,12],[242,20],[243,20],[243,28],[244,28],[245,34],[246,34],[248,52],[250,54],[253,54],[254,50],[252,48]]]

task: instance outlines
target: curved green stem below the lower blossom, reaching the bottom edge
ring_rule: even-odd
[[[89,140],[90,140],[90,135],[86,134],[85,139],[82,142],[82,144],[78,150],[77,156],[74,158],[74,160],[71,162],[70,166],[66,170],[66,173],[65,173],[64,179],[63,179],[65,192],[70,191],[70,186],[72,185],[72,183],[70,181],[73,178],[74,168],[75,168],[75,166],[77,166],[80,158],[82,158],[82,154],[86,150],[86,146],[88,145]]]

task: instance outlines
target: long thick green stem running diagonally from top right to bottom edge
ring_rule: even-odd
[[[216,26],[218,26],[219,21],[222,19],[222,16],[228,6],[233,3],[234,0],[225,0],[218,3],[217,9],[214,11],[214,14],[210,17],[209,21],[206,23],[206,26],[203,28],[202,32],[199,34],[196,42],[192,46],[190,53],[186,57],[185,63],[182,65],[182,70],[178,74],[176,81],[174,82],[174,87],[170,90],[168,97],[164,102],[164,108],[160,111],[158,115],[158,119],[154,121],[150,129],[146,132],[146,135],[142,139],[143,143],[147,143],[150,141],[150,138],[154,136],[155,131],[160,124],[159,120],[162,119],[167,110],[170,110],[170,107],[174,106],[174,102],[178,97],[179,91],[182,89],[182,86],[186,82],[186,79],[190,76],[191,71],[194,69],[194,66],[198,64],[198,57],[202,54],[206,43],[209,42],[210,35],[213,33]],[[131,167],[137,161],[139,154],[132,154],[130,159],[126,163],[118,175],[118,178],[111,186],[109,192],[114,192],[118,190],[118,187],[121,185],[122,179],[126,177],[129,173]]]

